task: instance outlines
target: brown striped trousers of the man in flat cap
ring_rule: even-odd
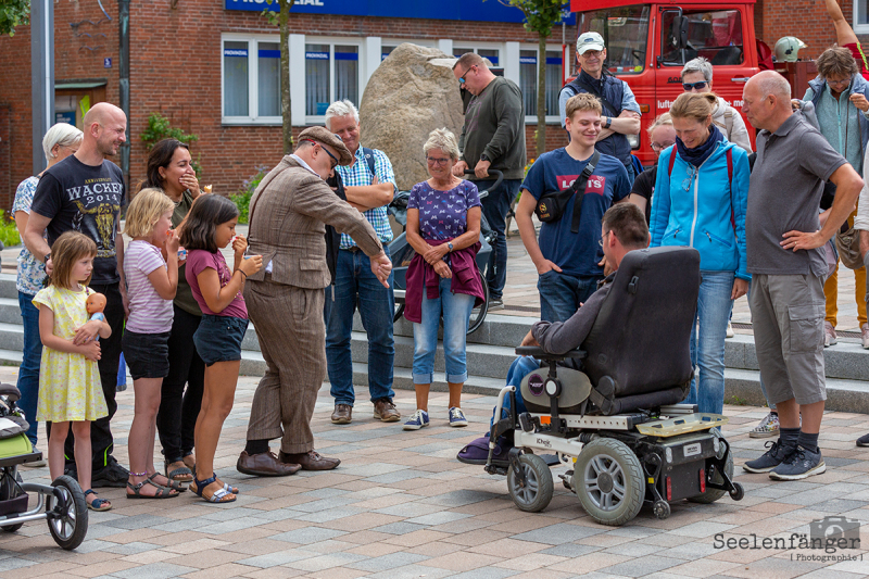
[[[324,291],[249,280],[248,314],[268,366],[253,394],[248,440],[280,438],[288,454],[314,449],[311,417],[326,378]]]

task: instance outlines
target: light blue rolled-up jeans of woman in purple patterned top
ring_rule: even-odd
[[[429,300],[423,290],[423,323],[414,324],[414,383],[431,383],[434,352],[438,349],[438,326],[443,313],[443,357],[446,381],[464,383],[468,379],[465,340],[468,319],[474,310],[474,295],[450,291],[452,280],[441,278],[440,295]]]

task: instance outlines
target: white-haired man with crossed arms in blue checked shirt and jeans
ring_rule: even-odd
[[[326,110],[326,128],[338,135],[354,156],[351,165],[336,167],[347,201],[365,215],[389,255],[387,246],[392,241],[392,229],[387,205],[396,190],[392,163],[382,151],[360,146],[360,113],[349,100],[336,101]],[[385,288],[371,273],[365,253],[350,236],[342,234],[335,285],[326,288],[326,358],[335,399],[333,424],[350,424],[353,419],[356,397],[350,338],[356,304],[368,335],[368,392],[374,403],[374,417],[385,423],[401,419],[392,403],[394,303],[392,274],[389,288]]]

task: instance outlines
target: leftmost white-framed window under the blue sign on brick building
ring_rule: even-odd
[[[280,123],[280,45],[275,40],[224,39],[224,123]]]

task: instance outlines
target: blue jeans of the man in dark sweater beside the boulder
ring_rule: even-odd
[[[519,193],[521,179],[504,179],[498,189],[489,191],[482,200],[482,214],[489,226],[498,234],[492,244],[489,267],[486,268],[486,282],[489,285],[489,299],[501,300],[507,282],[507,213],[509,205]],[[494,180],[474,181],[482,191],[495,184]]]

